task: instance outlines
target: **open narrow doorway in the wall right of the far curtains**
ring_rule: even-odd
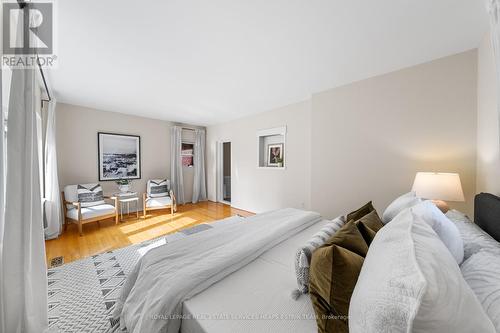
[[[217,201],[231,205],[231,142],[217,146]]]

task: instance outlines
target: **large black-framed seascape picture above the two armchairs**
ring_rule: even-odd
[[[99,181],[141,178],[141,137],[97,133]]]

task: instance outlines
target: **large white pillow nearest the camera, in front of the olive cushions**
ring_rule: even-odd
[[[407,209],[377,233],[349,306],[349,332],[495,332],[432,228]]]

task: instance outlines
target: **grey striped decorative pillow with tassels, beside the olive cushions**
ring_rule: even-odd
[[[344,216],[333,219],[297,250],[295,254],[295,274],[300,293],[306,294],[309,292],[309,265],[311,264],[312,253],[314,250],[324,245],[344,224]],[[294,297],[297,296],[298,295],[294,295]]]

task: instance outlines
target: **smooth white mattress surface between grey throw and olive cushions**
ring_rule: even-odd
[[[294,256],[326,220],[267,251],[183,304],[182,333],[317,332],[308,295],[297,289]]]

